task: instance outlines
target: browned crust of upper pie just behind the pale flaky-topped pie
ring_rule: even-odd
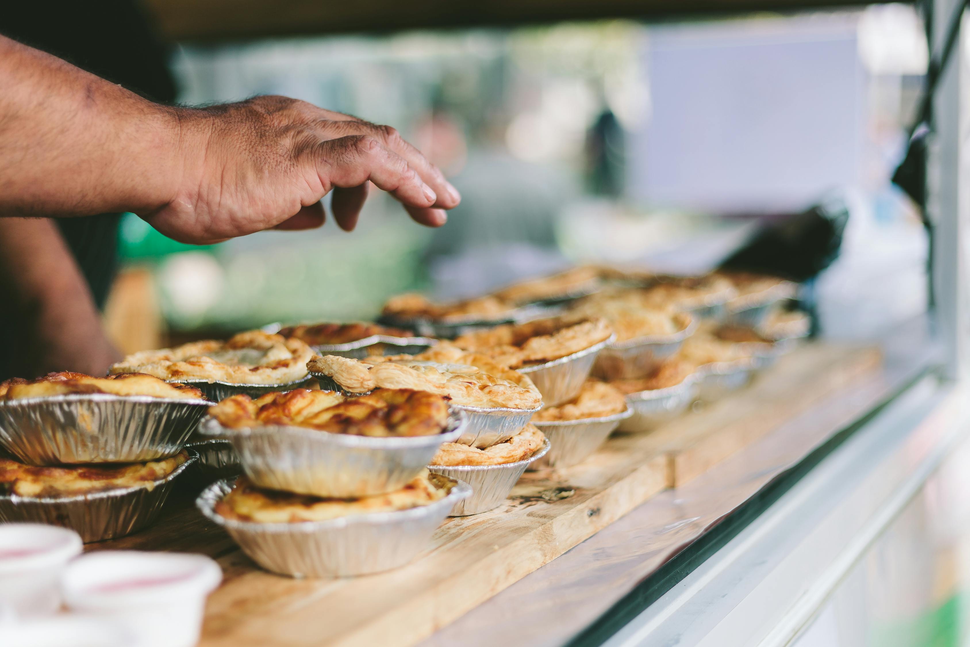
[[[462,335],[452,344],[486,355],[506,369],[521,369],[585,350],[612,334],[605,319],[553,317],[476,331]],[[435,351],[428,352],[430,355]]]

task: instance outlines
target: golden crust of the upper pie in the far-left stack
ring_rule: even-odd
[[[116,396],[148,396],[167,400],[205,400],[194,386],[166,382],[153,375],[131,372],[93,377],[82,372],[49,372],[37,379],[12,377],[0,382],[0,400],[22,400],[71,393],[110,393]]]

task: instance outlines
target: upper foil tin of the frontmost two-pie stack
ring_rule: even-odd
[[[466,424],[465,413],[449,407],[448,426],[435,436],[350,436],[284,425],[229,429],[209,416],[199,432],[228,438],[242,470],[261,488],[354,499],[403,488]]]

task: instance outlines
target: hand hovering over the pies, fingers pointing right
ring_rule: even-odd
[[[263,229],[323,224],[320,199],[350,231],[372,182],[411,217],[437,227],[458,191],[390,126],[287,97],[261,96],[207,109],[174,109],[181,172],[163,207],[140,213],[184,243],[213,243]]]

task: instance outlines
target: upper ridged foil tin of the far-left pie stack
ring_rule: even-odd
[[[0,402],[0,447],[29,465],[143,463],[178,454],[205,400],[72,393]]]

